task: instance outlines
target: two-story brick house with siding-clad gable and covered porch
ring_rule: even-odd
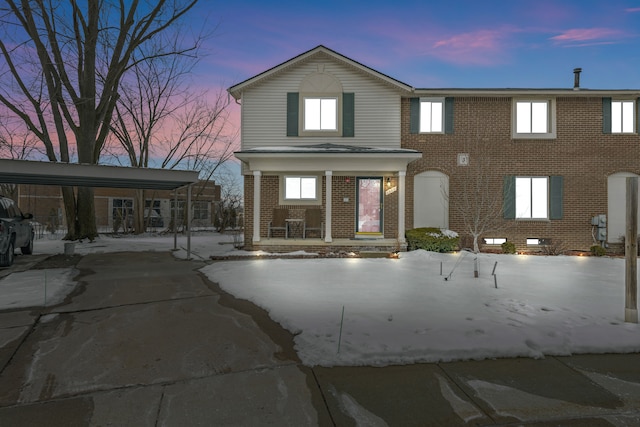
[[[422,89],[318,46],[232,86],[245,246],[404,249],[405,231],[426,226],[468,242],[460,207],[480,180],[500,206],[485,246],[619,244],[640,90],[582,89],[574,72],[567,89]],[[319,208],[321,235],[300,238],[295,221],[270,232],[277,208]]]

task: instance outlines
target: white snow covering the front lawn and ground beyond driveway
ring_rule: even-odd
[[[175,256],[186,257],[186,238],[178,238],[178,248]],[[77,243],[75,252],[172,249],[173,236],[103,236]],[[59,240],[36,241],[36,253],[63,250]],[[205,260],[247,256],[202,271],[296,334],[296,350],[307,365],[640,351],[640,327],[624,323],[620,258],[480,254],[480,277],[474,279],[474,255],[468,252],[253,259],[253,253],[234,249],[232,235],[216,233],[194,233],[191,250]],[[63,275],[46,271],[49,280]],[[22,280],[14,277],[19,274],[1,279],[0,287]],[[4,304],[2,296],[0,308],[8,308]]]

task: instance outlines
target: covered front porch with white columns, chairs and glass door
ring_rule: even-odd
[[[245,246],[271,252],[406,250],[406,168],[421,156],[415,150],[336,144],[237,152],[246,176]],[[283,196],[285,180],[296,174],[317,182],[314,199],[296,201]],[[377,202],[364,203],[357,188],[361,182],[375,184],[374,192],[380,194]],[[385,205],[387,200],[391,203]],[[363,214],[363,205],[380,210],[377,217],[376,212],[372,215],[373,227],[366,226],[369,216]],[[322,237],[295,239],[285,233],[280,239],[270,232],[276,210],[304,212],[313,207],[323,213]],[[296,215],[288,218],[292,221]]]

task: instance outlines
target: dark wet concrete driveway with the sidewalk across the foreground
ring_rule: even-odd
[[[312,369],[204,265],[85,255],[64,303],[0,312],[0,426],[640,425],[637,354]]]

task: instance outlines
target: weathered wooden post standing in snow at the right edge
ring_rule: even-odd
[[[638,177],[627,178],[624,321],[638,323]]]

